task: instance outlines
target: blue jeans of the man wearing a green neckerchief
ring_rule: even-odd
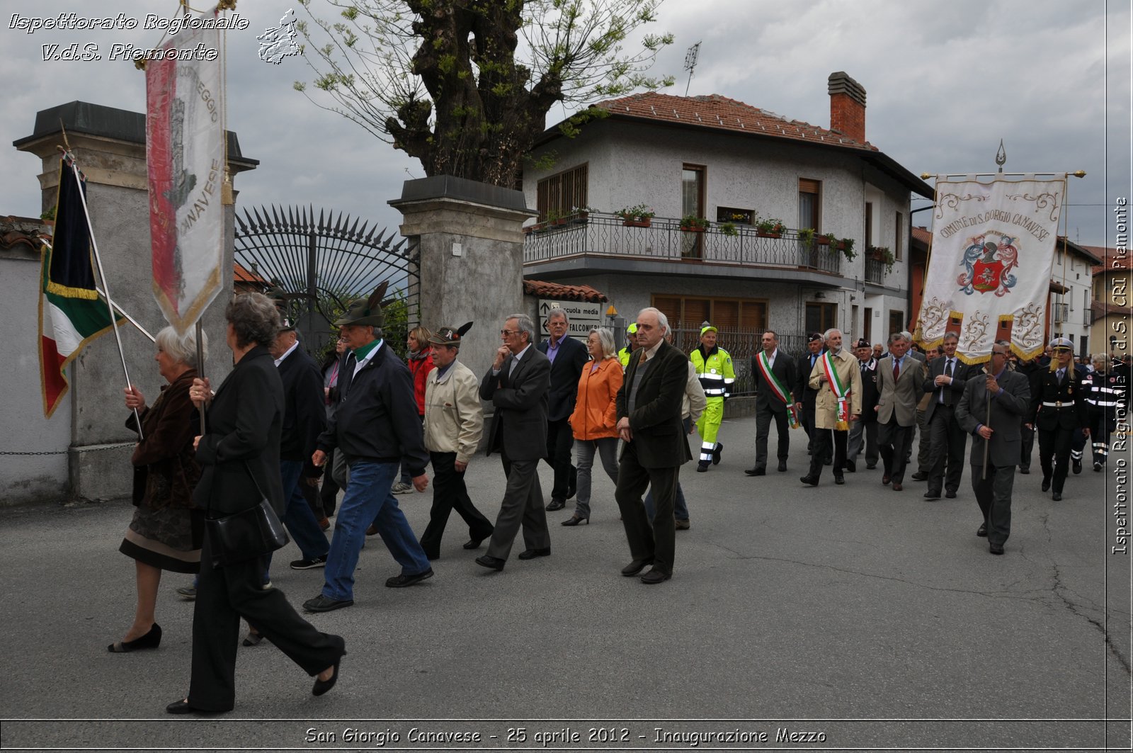
[[[334,536],[324,573],[324,597],[340,601],[353,599],[353,572],[366,539],[366,526],[370,522],[377,525],[382,541],[401,565],[402,575],[417,575],[429,569],[425,550],[390,491],[397,477],[397,463],[350,463],[350,483],[334,516]]]

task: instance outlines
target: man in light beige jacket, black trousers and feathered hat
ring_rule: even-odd
[[[472,505],[465,485],[465,469],[484,431],[479,381],[457,359],[460,339],[471,328],[471,322],[460,329],[442,327],[428,339],[434,367],[425,380],[425,448],[433,463],[433,509],[421,549],[429,559],[441,557],[441,536],[452,510],[468,524],[465,549],[477,549],[492,535],[492,523]]]

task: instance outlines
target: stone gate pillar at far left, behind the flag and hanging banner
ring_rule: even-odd
[[[40,111],[35,132],[14,145],[43,160],[40,187],[45,209],[56,203],[60,156],[56,147],[63,143],[60,124],[87,179],[87,209],[110,295],[122,311],[151,335],[156,335],[167,322],[152,288],[145,115],[86,102]],[[240,154],[236,134],[230,132],[228,137],[230,172],[235,176],[254,169],[258,162]],[[228,285],[203,318],[210,345],[205,371],[214,384],[231,370],[231,354],[224,345],[223,312],[232,295],[235,208],[225,209],[222,279]],[[154,346],[130,324],[121,327],[119,332],[130,381],[145,395],[146,403],[152,404],[165,383],[154,363]],[[123,425],[128,415],[122,396],[126,382],[113,333],[88,345],[73,362],[68,376],[71,386],[68,464],[71,494],[86,499],[129,496],[133,448],[103,449],[136,440],[136,434]]]

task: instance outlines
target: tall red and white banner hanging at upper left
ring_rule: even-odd
[[[223,288],[223,43],[219,10],[146,60],[146,166],[153,293],[184,333]]]

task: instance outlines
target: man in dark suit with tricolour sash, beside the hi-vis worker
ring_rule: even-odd
[[[794,408],[792,390],[798,387],[799,381],[794,373],[794,358],[780,350],[775,330],[764,332],[760,344],[764,346],[763,352],[751,356],[751,374],[756,382],[756,465],[744,471],[749,476],[767,473],[767,438],[773,418],[775,433],[778,435],[778,471],[786,471],[787,449],[791,446],[787,403]]]

